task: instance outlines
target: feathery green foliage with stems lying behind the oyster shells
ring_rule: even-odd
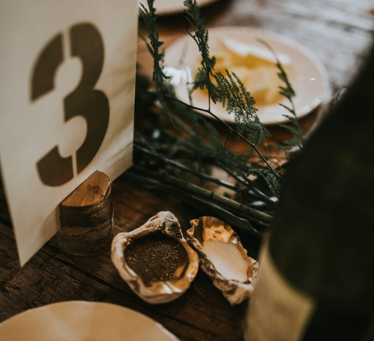
[[[189,91],[192,93],[196,89],[207,90],[209,109],[196,108],[192,103],[184,103],[176,98],[170,88],[168,77],[162,69],[164,54],[160,48],[163,42],[159,41],[153,0],[147,0],[147,4],[148,8],[141,5],[139,13],[146,24],[150,39],[150,42],[146,41],[146,43],[154,61],[153,82],[156,92],[143,89],[137,93],[137,102],[140,102],[140,105],[136,106],[139,109],[136,116],[142,121],[142,130],[137,131],[134,136],[134,163],[136,165],[134,178],[142,179],[144,175],[144,181],[150,187],[168,189],[171,193],[173,193],[174,185],[178,184],[183,187],[178,189],[178,195],[186,202],[197,207],[204,207],[205,210],[214,212],[218,217],[221,215],[223,219],[236,221],[242,227],[247,226],[252,232],[256,231],[261,235],[263,229],[267,227],[268,220],[261,221],[262,215],[251,208],[258,207],[261,203],[266,217],[273,212],[276,200],[274,196],[278,196],[281,177],[257,148],[269,136],[269,132],[257,116],[255,100],[234,73],[226,70],[224,75],[214,71],[215,58],[209,54],[208,31],[196,0],[184,1],[185,14],[193,30],[188,34],[197,44],[201,55],[201,64]],[[281,87],[281,95],[291,103],[290,108],[286,107],[291,114],[289,115],[291,124],[287,126],[287,129],[297,133],[296,142],[300,144],[302,140],[299,140],[299,136],[302,138],[302,133],[298,135],[299,125],[292,101],[295,93],[278,59],[277,67],[280,71],[278,76],[285,84]],[[172,122],[178,125],[179,134],[169,129],[165,122],[162,124],[162,115],[152,115],[150,110],[144,109],[143,99],[145,98],[149,103],[150,96],[162,104],[164,110],[161,114],[167,114]],[[236,130],[211,111],[210,101],[221,103],[228,113],[234,115]],[[214,124],[197,114],[195,110],[205,111],[216,118],[231,133],[229,137],[237,136],[250,146],[249,152],[228,151],[227,140],[224,142]],[[153,121],[150,121],[150,117]],[[292,141],[292,143],[296,142]],[[252,152],[258,154],[260,162],[250,163],[248,161]],[[227,182],[212,175],[214,174],[211,172],[213,167],[227,173],[236,183]],[[255,177],[249,177],[250,174]],[[197,187],[189,182],[190,176],[195,177],[195,180],[200,179],[201,186],[204,181],[234,190],[234,198],[237,202],[225,200],[224,196],[217,195],[210,189]],[[192,192],[189,192],[187,188]],[[208,198],[203,197],[203,194]],[[219,198],[219,200],[215,201],[214,198]],[[228,206],[225,203],[229,203]],[[245,212],[242,210],[244,207]],[[255,212],[255,215],[251,212]]]

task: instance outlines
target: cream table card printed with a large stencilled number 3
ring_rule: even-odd
[[[0,4],[0,161],[24,265],[58,204],[95,170],[131,166],[137,0]]]

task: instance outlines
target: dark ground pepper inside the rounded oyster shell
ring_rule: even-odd
[[[144,284],[168,281],[179,262],[179,243],[161,232],[150,233],[131,242],[125,249],[126,263]]]

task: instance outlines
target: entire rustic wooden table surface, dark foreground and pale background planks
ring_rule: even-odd
[[[372,0],[222,0],[204,8],[203,14],[208,27],[246,25],[295,38],[325,64],[335,92],[357,70],[374,32]],[[187,22],[175,15],[161,18],[159,26],[168,44],[183,34]],[[140,43],[138,60],[144,73],[150,73],[148,58]],[[301,123],[310,127],[316,117],[309,115]],[[201,270],[184,296],[172,303],[150,305],[120,279],[109,250],[94,257],[73,257],[52,240],[20,269],[3,193],[0,197],[0,321],[53,302],[104,301],[146,314],[181,340],[242,339],[246,304],[231,307]],[[121,178],[113,184],[113,203],[115,232],[138,227],[160,210],[174,212],[187,227],[178,200],[134,187]]]

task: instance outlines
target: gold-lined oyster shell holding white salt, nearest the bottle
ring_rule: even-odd
[[[187,241],[197,251],[200,265],[213,284],[231,304],[249,298],[259,265],[247,256],[239,236],[214,217],[194,219],[190,224]]]

